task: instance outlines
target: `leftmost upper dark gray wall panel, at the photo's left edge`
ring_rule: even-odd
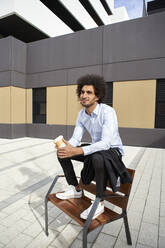
[[[0,71],[11,69],[11,37],[0,39]]]

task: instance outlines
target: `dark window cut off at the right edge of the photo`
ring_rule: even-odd
[[[155,127],[165,128],[165,79],[158,79],[156,84]]]

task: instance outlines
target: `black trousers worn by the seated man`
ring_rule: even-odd
[[[106,189],[106,183],[107,183],[107,173],[104,168],[104,160],[103,157],[95,152],[93,154],[90,154],[88,156],[91,156],[92,158],[92,166],[95,171],[95,178],[96,178],[96,196],[103,199],[103,194]],[[85,156],[79,155],[72,158],[58,158],[62,169],[64,171],[64,175],[66,177],[66,180],[69,185],[77,186],[78,181],[75,175],[75,171],[73,168],[73,164],[71,160],[76,160],[80,162],[84,162]]]

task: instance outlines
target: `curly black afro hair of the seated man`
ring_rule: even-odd
[[[77,96],[80,97],[81,90],[84,85],[92,85],[95,95],[99,98],[98,103],[103,102],[106,92],[106,84],[104,78],[99,75],[87,74],[77,80]]]

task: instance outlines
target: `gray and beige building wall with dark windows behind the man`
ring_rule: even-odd
[[[164,23],[161,12],[30,43],[0,39],[0,137],[68,139],[76,80],[99,74],[124,145],[165,147]]]

